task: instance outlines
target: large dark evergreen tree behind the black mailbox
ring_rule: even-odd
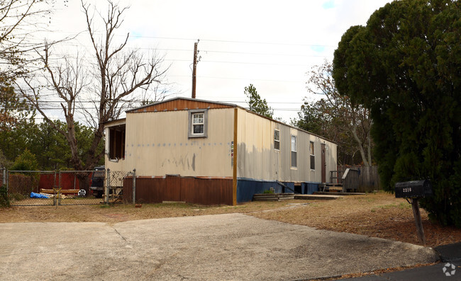
[[[338,91],[371,110],[384,188],[430,178],[421,205],[461,227],[460,2],[403,0],[352,26],[335,50]]]

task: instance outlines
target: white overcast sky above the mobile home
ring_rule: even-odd
[[[332,60],[341,35],[351,25],[365,25],[385,0],[260,1],[136,0],[124,13],[119,38],[130,33],[130,47],[165,55],[171,97],[191,96],[194,42],[199,42],[196,98],[246,107],[245,86],[274,108],[286,122],[296,117],[306,91],[306,72]],[[96,3],[105,10],[105,1]],[[48,37],[74,35],[85,29],[80,1],[57,3]],[[87,35],[62,45],[81,50]]]

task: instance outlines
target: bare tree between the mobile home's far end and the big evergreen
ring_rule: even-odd
[[[314,66],[309,71],[309,81],[307,90],[310,93],[318,93],[325,96],[324,106],[321,110],[324,115],[329,115],[333,119],[340,120],[333,130],[336,132],[345,132],[343,135],[352,134],[355,141],[356,151],[360,152],[362,162],[365,166],[372,165],[372,139],[370,130],[372,120],[370,110],[363,108],[361,105],[355,105],[347,96],[340,96],[336,89],[335,82],[331,76],[333,66],[330,62],[325,61],[320,66]]]

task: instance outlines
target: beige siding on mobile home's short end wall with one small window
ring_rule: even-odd
[[[232,176],[233,109],[208,111],[208,137],[188,138],[189,112],[128,113],[123,169],[138,176]]]

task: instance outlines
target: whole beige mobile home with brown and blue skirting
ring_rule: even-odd
[[[128,110],[105,130],[106,168],[135,169],[138,202],[235,205],[270,188],[309,193],[331,182],[337,164],[334,142],[229,103],[173,98]]]

